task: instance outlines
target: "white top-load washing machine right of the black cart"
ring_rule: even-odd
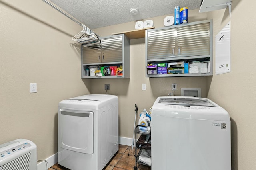
[[[152,170],[231,170],[228,112],[206,98],[158,97],[151,154]]]

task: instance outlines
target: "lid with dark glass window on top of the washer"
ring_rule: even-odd
[[[206,98],[184,97],[184,96],[159,97],[158,100],[156,100],[155,104],[220,107],[214,102]]]

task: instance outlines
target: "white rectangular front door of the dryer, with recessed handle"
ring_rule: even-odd
[[[93,112],[60,109],[58,115],[60,147],[93,154]]]

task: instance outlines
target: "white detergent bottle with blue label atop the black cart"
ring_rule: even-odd
[[[150,133],[150,127],[142,127],[151,126],[151,117],[147,114],[147,109],[143,109],[143,112],[141,112],[138,125],[141,125],[139,126],[140,133]]]

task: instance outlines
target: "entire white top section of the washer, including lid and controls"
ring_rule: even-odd
[[[153,116],[214,121],[230,121],[228,112],[207,98],[189,96],[158,97],[152,106]]]

